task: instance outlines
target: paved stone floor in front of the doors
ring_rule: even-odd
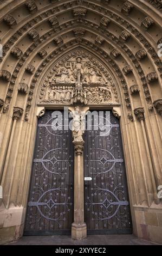
[[[9,245],[157,245],[138,239],[134,235],[88,235],[84,240],[73,240],[70,236],[23,236]]]

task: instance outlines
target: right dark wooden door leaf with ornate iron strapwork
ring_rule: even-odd
[[[131,233],[119,120],[111,113],[110,133],[106,137],[100,136],[100,131],[93,128],[94,125],[92,131],[85,132],[85,176],[92,177],[92,181],[85,181],[88,233]]]

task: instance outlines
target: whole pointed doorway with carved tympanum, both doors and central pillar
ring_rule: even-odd
[[[101,64],[83,50],[76,50],[61,59],[49,74],[46,76],[48,78],[45,78],[46,83],[42,84],[38,101],[38,106],[47,110],[38,120],[25,235],[70,234],[71,228],[72,237],[75,239],[86,237],[87,228],[88,233],[130,233],[124,157],[121,135],[117,136],[120,131],[116,132],[116,138],[113,139],[109,136],[103,139],[96,136],[97,139],[94,140],[99,151],[99,154],[96,154],[92,152],[95,151],[92,131],[85,131],[84,137],[81,129],[83,115],[89,108],[120,108],[118,90],[112,77]],[[76,121],[76,131],[66,130],[61,135],[62,131],[56,129],[54,134],[53,112],[48,111],[48,108],[61,109],[64,105],[73,113],[73,123],[74,117],[79,117]],[[115,127],[120,130],[119,121],[115,122]],[[113,126],[113,123],[111,125]],[[120,157],[111,152],[117,138]],[[102,147],[99,147],[100,139]],[[89,160],[93,154],[95,157]],[[89,162],[92,166],[89,166]],[[108,168],[107,172],[103,171],[105,168]],[[120,181],[121,173],[123,182]],[[85,175],[92,178],[90,189],[86,181],[84,184]],[[102,192],[98,193],[99,190],[104,191],[105,195],[103,196]],[[97,220],[92,215],[97,216]]]

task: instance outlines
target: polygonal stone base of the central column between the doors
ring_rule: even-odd
[[[87,225],[72,223],[72,239],[84,239],[87,237]]]

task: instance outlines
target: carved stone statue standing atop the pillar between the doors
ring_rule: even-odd
[[[82,135],[85,131],[85,114],[80,113],[80,108],[75,107],[73,112],[72,134],[73,142],[83,142]]]

